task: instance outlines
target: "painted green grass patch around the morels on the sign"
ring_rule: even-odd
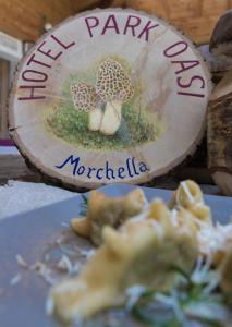
[[[70,76],[63,87],[62,98],[64,100],[61,100],[56,110],[47,117],[47,126],[50,132],[68,143],[89,149],[106,150],[134,147],[157,138],[159,128],[154,122],[149,122],[138,110],[136,96],[122,106],[122,123],[117,134],[107,136],[89,131],[87,113],[76,111],[72,104],[70,83],[75,81],[94,85],[94,72]]]

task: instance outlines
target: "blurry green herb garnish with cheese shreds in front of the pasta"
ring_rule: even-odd
[[[127,305],[132,316],[154,327],[213,326],[223,327],[229,319],[229,308],[219,289],[219,276],[208,263],[200,264],[192,275],[179,267],[174,288],[159,293],[141,286],[127,292]]]

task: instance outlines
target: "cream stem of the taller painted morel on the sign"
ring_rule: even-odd
[[[121,101],[113,100],[107,102],[100,125],[100,132],[102,134],[113,135],[119,130],[122,120],[121,108]]]

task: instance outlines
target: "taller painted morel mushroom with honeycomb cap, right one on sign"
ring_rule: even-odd
[[[96,93],[106,102],[100,132],[113,135],[121,124],[122,104],[134,94],[129,72],[119,62],[108,58],[98,70]]]

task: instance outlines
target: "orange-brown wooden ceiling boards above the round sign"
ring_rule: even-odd
[[[46,22],[56,25],[80,11],[97,7],[124,7],[168,20],[195,43],[208,43],[219,16],[231,0],[0,0],[0,29],[22,40],[36,40]]]

